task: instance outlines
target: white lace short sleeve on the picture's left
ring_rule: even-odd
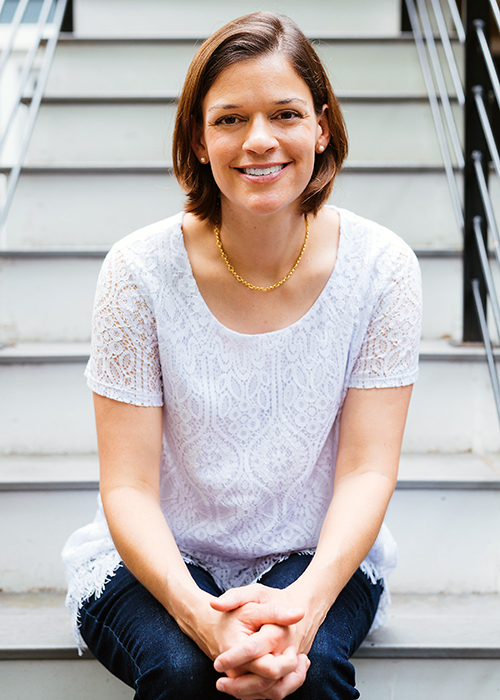
[[[92,391],[136,406],[163,405],[151,307],[122,251],[111,251],[99,275],[94,304],[90,360],[85,371]]]

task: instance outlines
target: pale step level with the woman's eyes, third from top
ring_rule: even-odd
[[[350,137],[349,162],[441,162],[424,98],[360,95],[346,97],[342,106]],[[26,164],[170,163],[175,109],[173,96],[168,95],[46,98]],[[458,106],[455,117],[461,133]]]

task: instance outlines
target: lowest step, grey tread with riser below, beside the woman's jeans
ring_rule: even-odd
[[[354,657],[370,700],[499,697],[498,596],[394,596],[385,629]],[[78,659],[62,598],[0,597],[0,682],[9,700],[132,700],[88,652]]]

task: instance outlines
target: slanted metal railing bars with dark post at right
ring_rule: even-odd
[[[496,0],[488,0],[489,5],[493,11],[493,15],[495,17],[495,20],[497,22],[498,28],[500,30],[500,10],[498,8],[498,4]],[[433,36],[433,31],[429,19],[429,14],[427,11],[427,4],[426,0],[417,0],[418,3],[418,9],[419,9],[419,16],[417,15],[414,2],[413,0],[406,0],[406,6],[408,9],[408,15],[410,17],[410,22],[412,25],[412,30],[415,38],[415,44],[416,48],[419,54],[420,58],[420,63],[421,63],[421,68],[422,68],[422,73],[424,76],[424,81],[427,87],[427,92],[429,96],[429,103],[432,109],[432,114],[434,117],[434,124],[436,127],[436,133],[438,135],[438,140],[440,143],[441,147],[441,153],[443,155],[443,161],[445,164],[445,169],[447,172],[447,177],[448,177],[448,184],[450,186],[450,193],[451,197],[453,200],[454,204],[454,210],[455,210],[455,215],[457,216],[457,222],[459,223],[459,226],[463,233],[465,234],[465,240],[468,245],[468,241],[470,241],[470,235],[472,233],[473,239],[475,239],[475,248],[476,248],[476,253],[472,254],[472,257],[474,260],[477,260],[477,263],[474,262],[474,272],[473,272],[473,277],[472,281],[470,281],[470,278],[466,280],[467,286],[464,284],[464,289],[470,289],[468,287],[468,284],[472,285],[471,291],[472,291],[472,299],[473,299],[473,304],[472,306],[475,306],[476,314],[477,314],[477,320],[479,324],[479,329],[480,334],[482,336],[485,350],[486,350],[486,356],[488,360],[488,368],[491,376],[491,382],[492,382],[492,387],[493,387],[493,393],[495,397],[495,405],[496,405],[496,410],[498,413],[498,418],[500,420],[500,383],[499,383],[499,378],[498,378],[498,373],[496,370],[496,364],[495,364],[495,358],[493,355],[493,349],[492,349],[492,341],[491,341],[491,336],[490,332],[488,329],[488,323],[486,320],[486,311],[485,311],[485,306],[483,305],[483,299],[489,299],[490,305],[491,305],[491,310],[493,313],[493,318],[495,321],[496,325],[496,330],[498,337],[500,337],[500,303],[498,301],[498,297],[496,294],[496,289],[495,289],[495,284],[493,280],[493,274],[491,271],[491,265],[490,265],[490,260],[487,252],[487,243],[486,243],[486,238],[485,238],[485,233],[484,233],[484,228],[485,228],[485,223],[487,223],[487,228],[491,232],[492,237],[493,237],[493,250],[495,253],[495,260],[496,262],[500,265],[500,233],[499,229],[497,226],[497,222],[495,219],[495,214],[493,211],[493,206],[491,203],[491,197],[490,193],[488,191],[488,184],[487,184],[487,168],[486,168],[486,162],[485,162],[485,157],[486,154],[482,152],[482,150],[487,150],[489,151],[489,154],[491,156],[491,160],[493,161],[495,171],[500,179],[500,154],[498,151],[498,147],[495,141],[495,137],[493,134],[493,129],[491,127],[490,119],[488,117],[488,111],[486,108],[486,104],[484,101],[484,89],[489,89],[488,87],[485,87],[483,89],[482,85],[474,85],[474,82],[472,82],[472,91],[468,93],[468,96],[472,96],[475,107],[477,110],[477,116],[479,117],[479,121],[477,122],[477,128],[479,130],[482,130],[482,133],[484,134],[484,139],[481,137],[479,140],[476,141],[468,141],[467,139],[470,137],[466,137],[466,147],[468,148],[467,151],[467,169],[464,172],[465,175],[465,180],[466,182],[469,182],[469,176],[472,175],[472,178],[475,178],[475,183],[474,185],[466,185],[467,187],[471,187],[471,190],[469,191],[466,189],[467,193],[466,194],[466,215],[467,217],[471,217],[471,211],[473,212],[472,214],[472,221],[468,218],[467,222],[464,223],[464,216],[462,212],[462,207],[460,203],[460,199],[458,198],[457,195],[457,188],[456,188],[456,181],[455,178],[451,178],[449,176],[448,170],[449,170],[449,160],[450,160],[450,152],[449,152],[449,147],[447,143],[444,143],[445,138],[443,137],[444,134],[444,124],[443,124],[443,119],[441,115],[441,110],[439,109],[438,105],[438,100],[437,100],[437,95],[436,95],[436,89],[435,89],[435,84],[438,87],[440,97],[441,97],[441,104],[443,107],[443,111],[446,117],[446,123],[448,126],[448,133],[450,134],[450,138],[452,140],[452,143],[454,145],[454,150],[457,153],[457,142],[459,143],[458,138],[455,139],[454,137],[454,120],[453,120],[453,127],[450,128],[450,115],[452,115],[451,108],[449,106],[449,100],[448,100],[448,95],[446,91],[446,86],[445,86],[445,81],[443,77],[443,72],[441,69],[441,63],[439,59],[439,54],[437,52],[434,36]],[[441,3],[440,0],[430,0],[430,3],[432,5],[432,9],[434,12],[434,17],[436,19],[436,23],[438,26],[440,38],[442,45],[444,47],[445,51],[445,57],[446,61],[448,62],[448,67],[450,74],[452,76],[453,84],[455,87],[455,91],[457,94],[457,98],[459,103],[462,105],[464,104],[462,96],[464,95],[464,90],[462,88],[462,84],[460,81],[459,77],[459,72],[458,68],[456,67],[456,62],[454,58],[453,51],[451,49],[451,43],[449,41],[448,37],[448,32],[446,30],[446,23],[444,20],[444,16],[442,13],[442,8],[441,8]],[[466,35],[464,31],[464,27],[462,25],[462,22],[460,20],[460,15],[458,13],[458,9],[456,6],[456,3],[454,0],[448,0],[448,5],[451,11],[451,15],[453,17],[453,21],[457,30],[457,35],[459,37],[459,40],[461,43],[464,43],[466,41]],[[474,12],[472,8],[472,1],[469,0],[469,5],[470,8],[468,7],[468,10],[470,12]],[[476,6],[477,9],[477,6]],[[483,12],[483,10],[481,10]],[[478,12],[480,17],[483,19],[486,17],[485,14],[481,14],[481,12]],[[475,15],[477,17],[477,14]],[[491,52],[488,46],[488,41],[486,39],[485,35],[485,22],[483,19],[476,19],[474,22],[471,21],[474,19],[474,15],[469,16],[469,22],[468,22],[468,27],[469,27],[469,32],[473,31],[475,32],[475,35],[477,37],[477,42],[480,47],[480,51],[484,60],[484,70],[482,70],[479,73],[479,76],[481,76],[482,73],[484,73],[484,78],[483,77],[477,77],[477,72],[470,73],[470,76],[474,77],[469,77],[469,81],[475,81],[477,80],[478,82],[483,82],[484,80],[487,80],[486,76],[489,76],[489,80],[491,83],[491,87],[493,88],[493,92],[495,94],[496,102],[498,104],[498,107],[500,108],[500,81],[496,73],[495,65],[493,63],[493,58],[491,56]],[[425,44],[424,40],[422,38],[422,32],[420,29],[420,21],[422,22],[422,25],[424,27],[424,34],[425,34]],[[471,29],[471,26],[473,29]],[[468,43],[469,46],[469,43]],[[475,49],[474,49],[475,50]],[[427,52],[429,53],[431,63],[432,63],[432,69],[433,69],[433,74],[431,73],[431,68],[429,65],[429,61],[427,58]],[[471,56],[471,54],[468,54]],[[435,81],[435,83],[434,83]],[[467,85],[467,90],[471,90],[471,84],[470,82]],[[467,114],[470,117],[470,109],[466,110]],[[472,119],[472,118],[471,118]],[[474,120],[476,118],[474,117]],[[474,124],[476,122],[474,121]],[[477,137],[474,137],[477,138]],[[471,143],[475,144],[481,144],[479,148],[478,146],[473,145],[471,148]],[[471,153],[472,151],[472,153]],[[460,147],[460,155],[457,155],[457,160],[459,163],[463,162],[463,154],[461,152],[461,147]],[[472,164],[472,170],[470,170],[470,165]],[[485,170],[486,168],[486,170]],[[471,194],[469,192],[473,192],[474,194]],[[474,210],[476,207],[478,208],[478,211],[481,211],[481,204],[482,204],[482,215],[474,215]],[[457,212],[459,211],[460,216],[457,215]],[[476,212],[477,213],[477,212]],[[471,230],[472,229],[472,230]],[[469,266],[470,267],[470,266]],[[482,282],[479,280],[479,277],[482,277]],[[469,292],[467,292],[469,293]],[[467,316],[467,318],[469,318]],[[464,324],[465,324],[465,316],[464,316]],[[468,333],[467,333],[468,335]]]

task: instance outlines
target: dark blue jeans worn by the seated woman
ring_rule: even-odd
[[[264,574],[260,583],[286,588],[311,556],[293,554]],[[213,578],[189,565],[198,586],[220,595]],[[382,584],[358,569],[318,630],[309,652],[305,683],[290,700],[358,698],[349,658],[365,638],[377,611]],[[229,700],[215,688],[212,661],[187,637],[151,593],[121,567],[98,599],[83,604],[81,633],[94,656],[135,689],[136,700]]]

